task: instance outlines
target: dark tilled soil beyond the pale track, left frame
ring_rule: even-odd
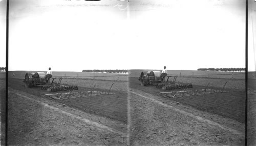
[[[78,84],[79,91],[91,91],[92,89],[90,87],[93,87],[93,85],[95,84],[93,80],[86,80],[87,84],[79,84],[76,79],[74,79],[73,82],[76,82]],[[97,86],[97,88],[94,88],[94,91],[109,90],[113,81],[98,82],[100,83],[98,83],[99,85]],[[113,90],[111,90],[111,92],[115,94],[112,95],[99,95],[55,101],[88,113],[93,113],[96,115],[104,116],[106,118],[127,123],[127,92],[122,91],[122,86],[118,86],[118,84],[123,84],[122,86],[125,86],[127,82],[116,82],[116,84],[114,83],[112,88]],[[81,87],[80,85],[84,86]],[[36,95],[42,98],[47,98],[45,94],[49,94],[49,92],[47,91],[40,90],[40,87],[32,87],[27,89],[22,79],[9,78],[9,87],[12,87],[15,90],[26,91],[32,95]]]

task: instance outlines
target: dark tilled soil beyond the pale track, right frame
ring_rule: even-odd
[[[219,79],[218,79],[219,80]],[[161,96],[160,92],[168,92],[162,89],[157,89],[155,86],[141,86],[138,78],[130,77],[130,87],[146,93]],[[227,118],[234,119],[240,123],[245,122],[245,90],[230,89],[225,87],[227,93],[216,93],[207,95],[186,96],[182,98],[160,98],[164,102],[176,101],[196,109],[219,114]],[[193,84],[193,89],[202,90],[205,86]],[[220,87],[209,86],[207,89],[222,89]],[[244,87],[245,89],[245,87]],[[172,90],[177,91],[177,90]]]

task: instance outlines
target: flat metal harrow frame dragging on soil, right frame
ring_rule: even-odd
[[[228,91],[223,90],[187,90],[187,91],[172,91],[172,92],[160,92],[163,97],[167,98],[178,98],[184,96],[193,96],[193,95],[204,95],[204,94],[213,94],[213,93],[226,93]]]

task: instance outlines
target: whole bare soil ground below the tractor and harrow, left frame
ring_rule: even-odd
[[[94,90],[105,91],[105,82],[100,83],[105,89]],[[90,91],[90,87],[79,86],[79,91]],[[45,96],[49,92],[38,87],[27,89],[22,79],[9,78],[8,92],[9,145],[127,143],[127,92],[114,85],[114,95],[50,100]]]

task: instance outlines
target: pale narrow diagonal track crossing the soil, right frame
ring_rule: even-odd
[[[165,106],[165,107],[167,107],[167,108],[170,108],[170,109],[173,109],[173,110],[175,110],[175,111],[178,111],[178,112],[180,112],[180,113],[182,113],[182,114],[188,115],[188,116],[190,116],[190,117],[192,117],[192,118],[197,119],[198,121],[206,122],[206,123],[208,123],[208,124],[210,124],[210,125],[212,125],[212,126],[218,126],[218,127],[220,127],[221,129],[223,129],[223,130],[230,131],[230,132],[232,132],[233,134],[241,135],[241,136],[244,137],[244,134],[241,133],[240,131],[237,131],[237,130],[234,130],[234,129],[232,129],[232,128],[229,128],[229,127],[223,126],[223,125],[221,125],[221,124],[218,124],[218,123],[216,123],[216,122],[213,122],[213,121],[204,119],[204,118],[202,118],[201,116],[197,116],[197,115],[194,115],[194,114],[192,114],[192,113],[188,113],[188,112],[186,112],[186,111],[177,109],[177,108],[175,108],[175,107],[173,107],[173,106],[171,106],[171,105],[167,105],[167,104],[162,103],[162,102],[160,102],[160,101],[158,101],[158,100],[152,99],[152,98],[150,98],[150,97],[143,96],[143,95],[138,94],[138,93],[136,93],[136,92],[132,92],[132,91],[130,91],[130,92],[131,92],[132,94],[137,95],[137,96],[140,96],[140,97],[143,97],[143,98],[146,98],[146,99],[150,99],[151,101],[153,101],[153,102],[155,102],[155,103],[158,103],[158,104],[163,105],[163,106]]]

